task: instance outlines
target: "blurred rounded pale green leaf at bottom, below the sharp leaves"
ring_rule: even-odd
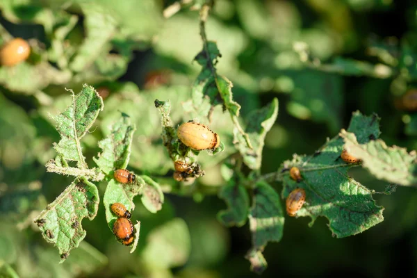
[[[190,232],[181,218],[156,227],[147,237],[142,258],[153,268],[175,268],[188,261],[191,251]]]

